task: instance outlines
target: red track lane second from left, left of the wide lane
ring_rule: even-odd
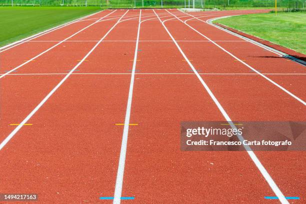
[[[121,15],[123,12],[119,12]],[[98,35],[105,34],[114,22],[104,21]],[[65,73],[67,74],[96,42],[66,42],[45,55],[20,67],[13,73]],[[77,46],[76,46],[77,45]],[[54,61],[54,57],[60,59]],[[83,61],[86,63],[87,61]],[[76,69],[75,72],[79,71]],[[15,128],[11,123],[19,123],[61,80],[62,75],[6,75],[1,84],[1,141]],[[20,102],[22,101],[22,102]]]

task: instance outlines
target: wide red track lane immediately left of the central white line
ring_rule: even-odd
[[[7,161],[0,164],[0,190],[35,191],[52,203],[99,202],[99,196],[112,195],[122,131],[115,123],[124,118],[128,82],[126,75],[67,78],[28,120],[33,128],[21,128],[0,151]],[[20,171],[28,176],[18,176]]]

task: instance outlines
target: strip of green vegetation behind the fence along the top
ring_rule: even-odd
[[[163,7],[192,7],[193,0],[162,0]],[[95,5],[112,8],[161,7],[161,0],[0,0],[0,5]],[[283,8],[303,7],[304,0],[277,0],[277,6]],[[270,8],[274,0],[194,0],[197,8],[241,9],[241,8]]]

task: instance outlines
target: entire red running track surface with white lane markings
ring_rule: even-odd
[[[180,151],[180,121],[225,120],[199,78],[232,120],[305,120],[304,66],[205,23],[255,12],[104,10],[0,50],[0,192],[305,203],[305,152],[255,152],[266,179],[246,151]]]

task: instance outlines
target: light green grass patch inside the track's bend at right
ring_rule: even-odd
[[[214,22],[306,54],[306,12],[248,14]]]

